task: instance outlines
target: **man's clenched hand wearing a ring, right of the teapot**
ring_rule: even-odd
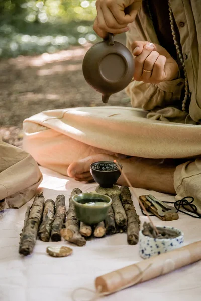
[[[145,83],[158,84],[178,77],[178,64],[160,45],[147,41],[135,41],[132,44],[135,57],[133,78]]]

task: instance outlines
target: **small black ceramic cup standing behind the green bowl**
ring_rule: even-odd
[[[90,165],[90,173],[93,177],[93,179],[95,180],[95,182],[97,182],[101,187],[104,188],[109,188],[112,187],[113,184],[115,184],[117,182],[117,180],[119,179],[121,172],[120,170],[117,169],[116,170],[108,170],[108,171],[100,171],[100,170],[96,170],[94,169],[94,166],[96,164],[102,164],[102,163],[114,163],[113,161],[97,161],[97,162],[93,162]],[[122,169],[122,165],[120,163],[117,162],[117,164],[119,165],[119,167]]]

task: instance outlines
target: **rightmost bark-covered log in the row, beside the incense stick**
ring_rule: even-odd
[[[127,215],[127,241],[130,245],[138,243],[140,231],[140,218],[136,213],[131,192],[127,186],[121,186],[121,201]]]

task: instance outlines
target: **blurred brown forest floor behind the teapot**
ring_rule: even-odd
[[[125,42],[125,36],[116,40]],[[22,122],[44,110],[105,106],[101,95],[84,80],[82,60],[87,47],[72,46],[56,53],[18,56],[0,61],[0,136],[22,146]],[[107,105],[130,106],[124,91]]]

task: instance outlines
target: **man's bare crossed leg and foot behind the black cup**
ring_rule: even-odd
[[[67,169],[67,174],[77,181],[89,182],[93,179],[90,174],[91,163],[101,160],[113,161],[114,159],[122,164],[133,187],[175,193],[173,175],[176,165],[174,160],[170,159],[120,158],[99,153],[71,163]],[[123,175],[120,176],[117,184],[127,185]]]

